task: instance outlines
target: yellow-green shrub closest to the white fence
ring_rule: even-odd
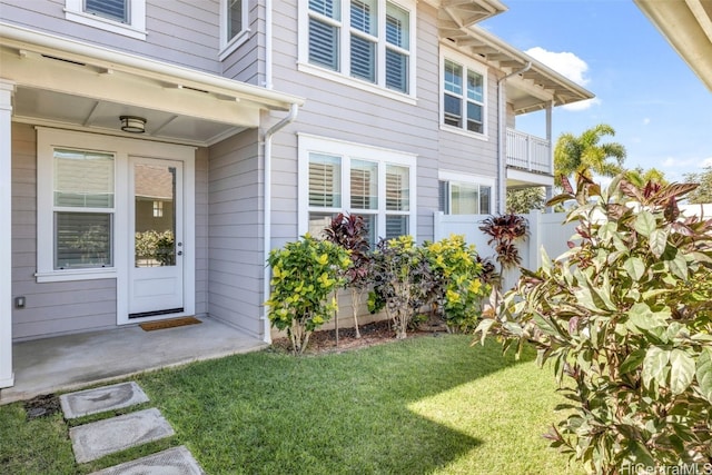
[[[474,329],[482,313],[481,303],[491,290],[483,283],[484,266],[475,246],[467,245],[462,235],[452,235],[425,243],[425,255],[435,279],[432,298],[447,329]]]

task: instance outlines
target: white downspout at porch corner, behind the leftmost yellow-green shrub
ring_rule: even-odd
[[[289,108],[287,117],[275,123],[265,132],[265,190],[264,190],[264,243],[263,243],[263,263],[265,263],[265,271],[263,275],[263,296],[265,300],[269,298],[269,280],[271,278],[271,269],[267,266],[267,259],[269,258],[269,249],[271,247],[271,139],[279,130],[294,122],[297,119],[299,112],[299,106],[293,103]],[[271,328],[269,325],[269,318],[267,316],[267,306],[263,305],[263,320],[265,325],[265,343],[271,343]]]

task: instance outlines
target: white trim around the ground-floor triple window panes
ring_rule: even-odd
[[[313,136],[309,133],[297,133],[299,147],[299,165],[298,165],[298,224],[297,231],[303,236],[309,230],[309,154],[326,154],[343,157],[342,161],[342,184],[349,184],[348,172],[350,170],[350,159],[373,161],[378,164],[378,182],[385,184],[385,165],[396,165],[408,167],[408,186],[409,186],[409,209],[408,211],[387,211],[378,208],[374,215],[377,217],[377,229],[386,229],[386,215],[408,216],[408,231],[414,239],[417,240],[417,155],[400,150],[375,147],[370,145],[356,144],[345,140],[330,139],[326,137]],[[344,187],[342,194],[342,209],[348,210],[350,206],[350,185]],[[329,212],[328,208],[325,212]],[[370,214],[370,212],[369,212]],[[376,236],[379,239],[382,236]]]

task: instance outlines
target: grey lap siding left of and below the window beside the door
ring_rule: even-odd
[[[31,339],[116,325],[116,280],[38,284],[37,144],[31,126],[12,123],[12,336]]]

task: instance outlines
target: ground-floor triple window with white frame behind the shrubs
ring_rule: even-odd
[[[299,234],[320,236],[347,211],[363,216],[374,245],[415,229],[415,156],[299,136]]]

